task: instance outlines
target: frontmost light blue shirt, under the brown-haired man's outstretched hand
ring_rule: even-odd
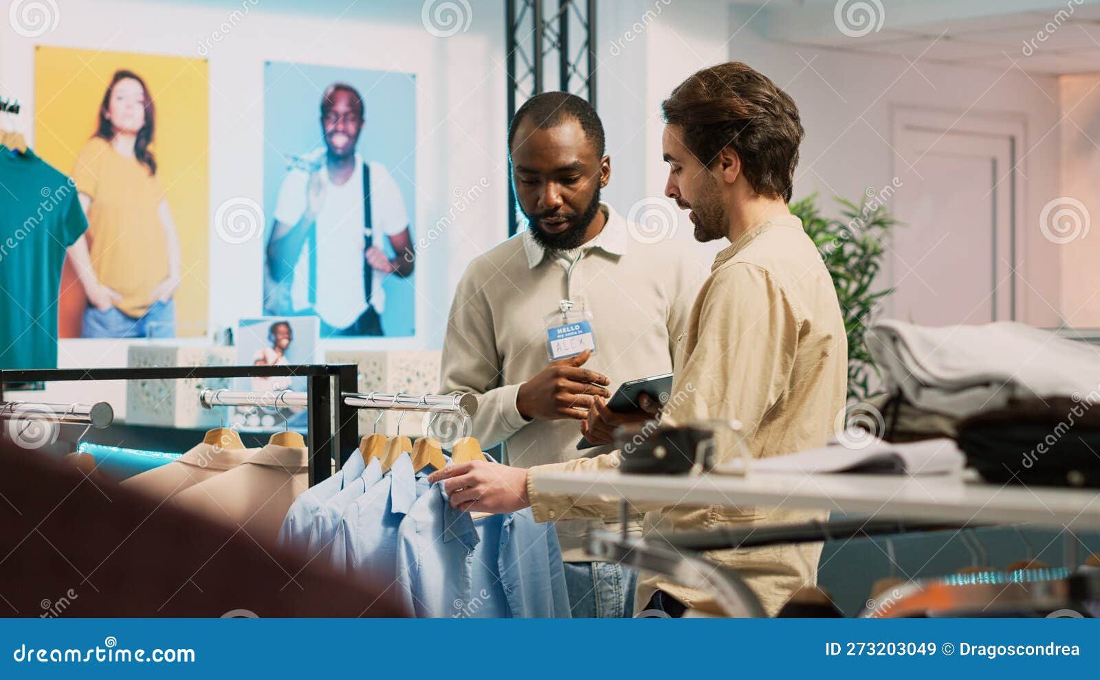
[[[432,484],[398,531],[398,597],[421,617],[570,616],[552,523],[530,509],[474,522]]]

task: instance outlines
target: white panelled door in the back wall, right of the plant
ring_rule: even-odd
[[[913,114],[895,126],[903,182],[892,205],[903,223],[890,253],[895,319],[948,325],[1018,315],[1018,134],[959,121]]]

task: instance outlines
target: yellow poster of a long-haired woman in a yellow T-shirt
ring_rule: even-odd
[[[88,216],[68,249],[59,337],[201,336],[208,326],[205,59],[38,46],[36,153]]]

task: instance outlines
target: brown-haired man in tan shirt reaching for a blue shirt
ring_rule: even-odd
[[[680,345],[672,400],[662,421],[737,419],[754,456],[822,446],[844,410],[847,341],[828,271],[791,215],[799,143],[803,136],[791,98],[745,64],[703,69],[662,104],[667,123],[666,193],[690,209],[695,237],[725,237]],[[606,442],[631,417],[612,414],[595,399],[583,426]],[[636,419],[634,419],[636,420]],[[733,455],[732,446],[722,455]],[[537,520],[614,515],[617,499],[571,499],[540,489],[547,470],[592,471],[617,467],[618,452],[594,459],[518,470],[487,462],[451,466],[444,480],[451,504],[509,512],[531,506]],[[648,531],[803,522],[815,511],[663,508],[646,515]],[[801,586],[816,580],[821,545],[722,550],[712,560],[736,568],[769,615]],[[635,609],[714,606],[705,592],[657,576],[642,578]],[[671,603],[671,607],[670,607]]]

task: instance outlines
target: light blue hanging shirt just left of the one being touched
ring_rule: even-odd
[[[397,576],[397,529],[413,503],[428,490],[428,466],[413,471],[402,454],[388,472],[343,513],[332,540],[331,564],[337,571],[360,573],[388,588]]]

